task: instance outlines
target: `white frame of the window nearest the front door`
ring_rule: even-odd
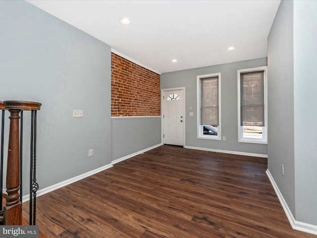
[[[204,135],[203,125],[201,125],[201,96],[202,96],[202,79],[218,76],[218,133],[217,135]],[[221,73],[210,73],[197,75],[197,138],[208,140],[221,140]]]

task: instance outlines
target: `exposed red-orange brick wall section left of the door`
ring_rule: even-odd
[[[111,53],[111,116],[160,116],[159,74]]]

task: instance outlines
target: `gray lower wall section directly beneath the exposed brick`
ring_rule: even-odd
[[[112,160],[161,144],[160,117],[112,118]]]

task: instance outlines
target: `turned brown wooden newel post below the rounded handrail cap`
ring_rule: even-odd
[[[20,136],[19,119],[21,110],[9,109],[10,132],[6,170],[6,203],[3,208],[4,225],[22,225],[22,203],[20,201]]]

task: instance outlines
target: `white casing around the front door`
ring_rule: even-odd
[[[182,90],[183,91],[183,147],[185,147],[185,128],[186,128],[186,112],[185,112],[185,87],[178,87],[178,88],[164,88],[164,89],[161,89],[161,92],[160,92],[160,108],[161,108],[161,111],[160,111],[160,116],[161,116],[161,144],[163,145],[164,144],[164,118],[163,118],[163,115],[164,115],[164,112],[165,112],[165,99],[163,98],[164,96],[164,93],[165,92],[172,92],[172,91],[176,91],[176,90]]]

